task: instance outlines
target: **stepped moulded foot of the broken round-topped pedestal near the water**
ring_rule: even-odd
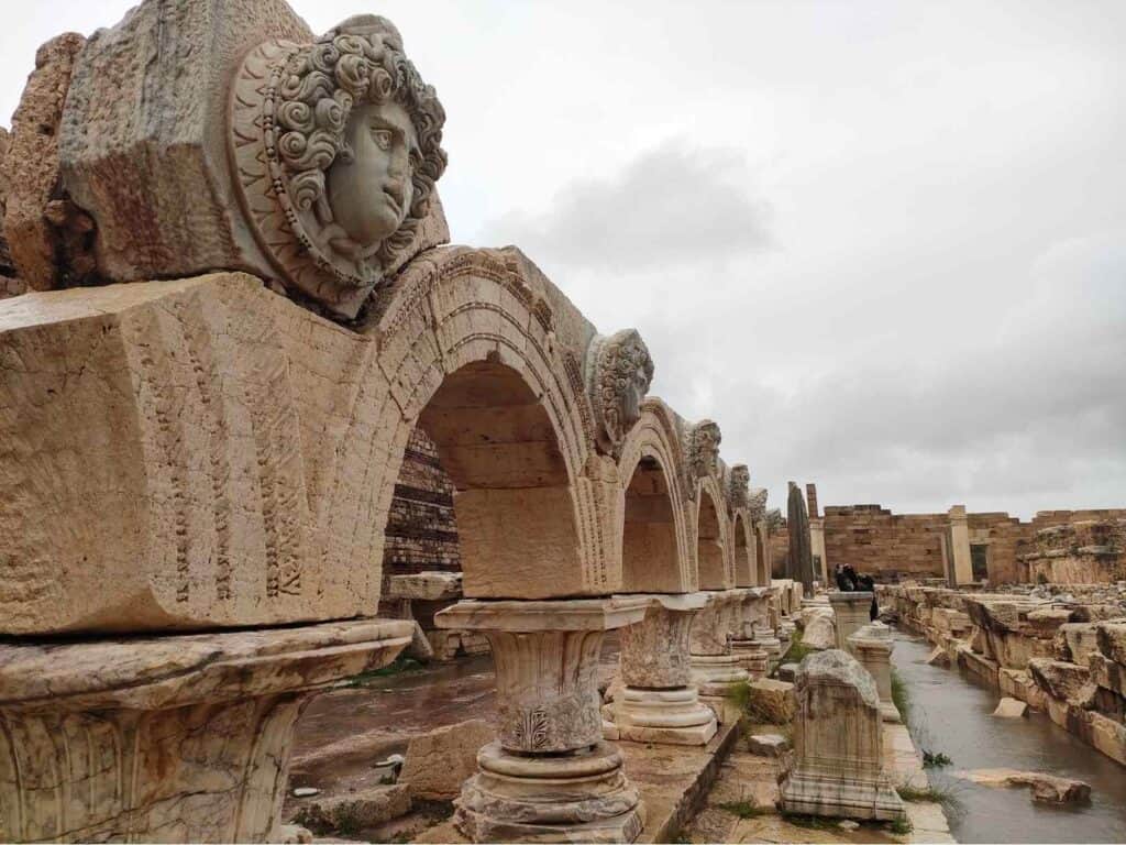
[[[894,821],[906,817],[903,800],[881,772],[869,777],[797,768],[781,784],[784,812]]]

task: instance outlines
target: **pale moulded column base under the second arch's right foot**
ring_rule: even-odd
[[[661,745],[707,745],[717,730],[715,713],[700,703],[695,687],[636,690],[615,699],[618,739]]]

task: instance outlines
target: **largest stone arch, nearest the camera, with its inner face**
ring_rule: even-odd
[[[420,421],[455,479],[468,597],[609,592],[609,484],[597,469],[581,355],[593,336],[518,250],[434,250],[376,297],[360,331],[377,347],[349,425],[366,450],[334,518],[376,572],[403,452]],[[592,473],[600,478],[602,473]],[[363,518],[364,514],[370,515]],[[355,557],[355,555],[354,555]]]

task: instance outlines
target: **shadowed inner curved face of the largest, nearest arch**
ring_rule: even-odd
[[[581,590],[566,463],[540,401],[511,367],[466,364],[418,426],[454,486],[467,597],[545,598]]]

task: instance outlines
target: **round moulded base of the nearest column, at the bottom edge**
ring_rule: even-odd
[[[454,825],[473,842],[628,843],[644,826],[622,753],[607,742],[549,757],[490,742],[477,766],[454,812]]]

